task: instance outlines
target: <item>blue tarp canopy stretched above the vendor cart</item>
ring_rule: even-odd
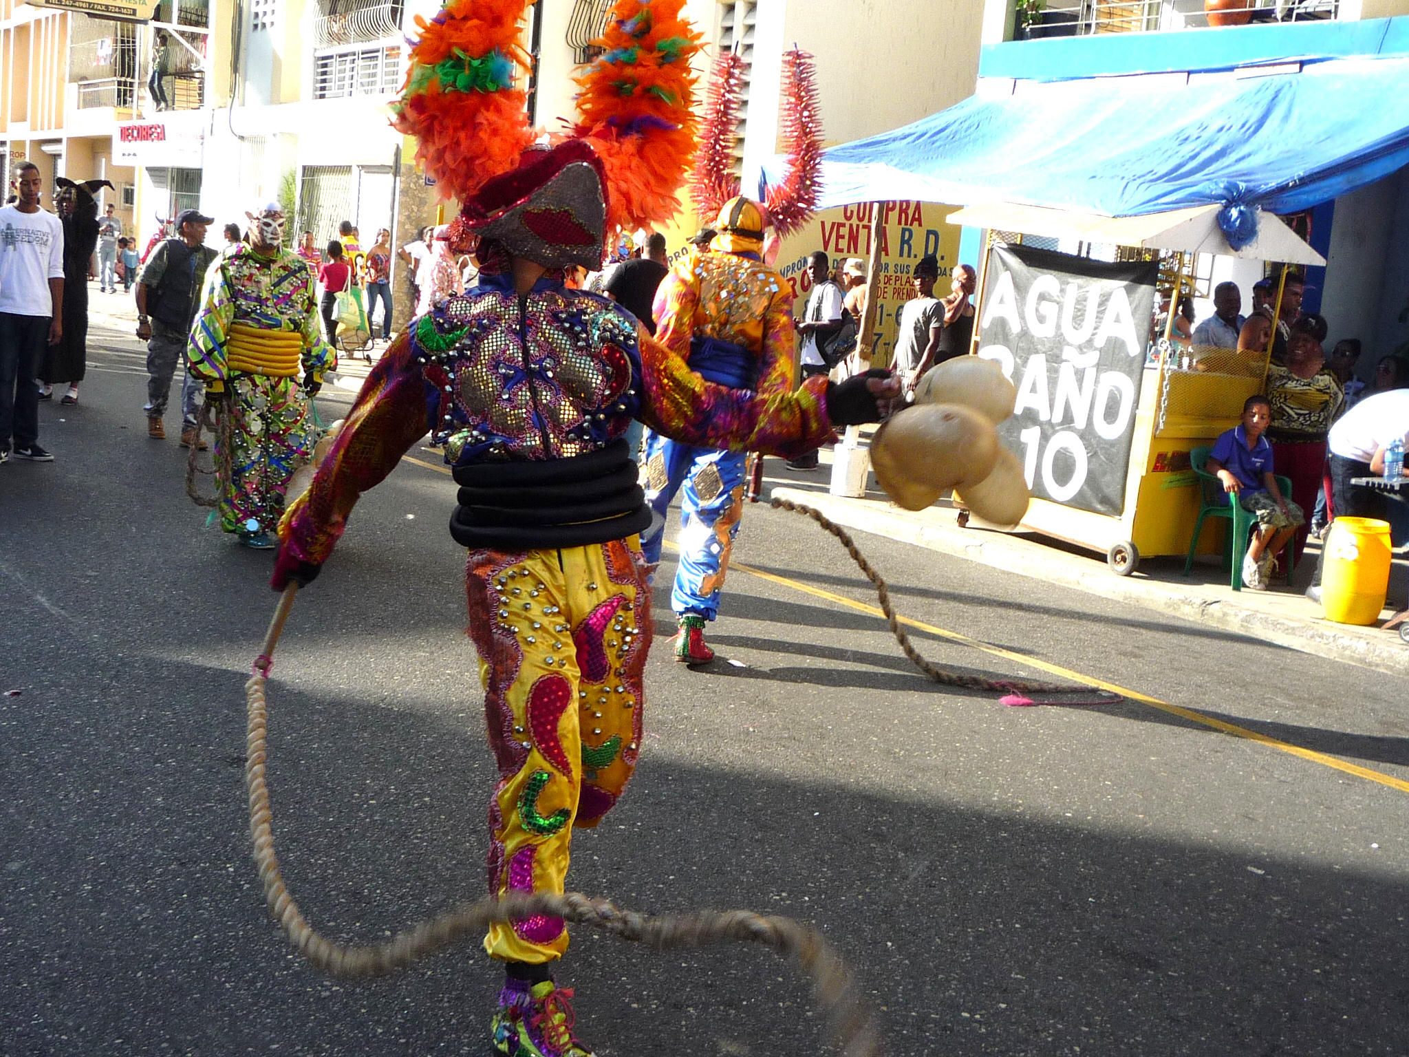
[[[981,93],[826,151],[820,204],[1012,202],[1112,217],[1213,204],[1292,213],[1409,163],[1409,58],[1255,73],[1193,75],[1172,87],[1141,78],[1017,82],[1012,94]],[[775,159],[766,178],[781,169]],[[1237,217],[1226,217],[1231,242]]]

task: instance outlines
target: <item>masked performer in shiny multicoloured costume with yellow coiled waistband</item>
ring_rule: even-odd
[[[283,209],[247,216],[249,242],[224,251],[206,276],[190,372],[220,426],[220,527],[262,548],[275,545],[289,478],[317,441],[309,402],[337,354],[323,338],[309,264],[283,248]]]

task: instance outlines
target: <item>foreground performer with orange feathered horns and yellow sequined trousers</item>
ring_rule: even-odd
[[[551,149],[523,149],[533,141],[528,130],[516,135],[523,93],[500,82],[468,101],[483,118],[506,96],[506,125],[495,135],[482,130],[483,140],[455,141],[451,159],[424,149],[440,142],[444,125],[433,113],[437,100],[416,87],[426,85],[421,70],[447,54],[461,63],[475,62],[465,55],[510,54],[523,4],[497,13],[497,38],[482,32],[492,21],[486,4],[445,8],[424,27],[399,127],[421,138],[421,163],[451,180],[465,203],[451,234],[478,240],[480,280],[393,342],[307,493],[280,524],[276,589],[317,575],[361,492],[390,474],[427,430],[445,445],[459,485],[451,536],[468,548],[469,633],[500,769],[489,803],[488,879],[496,894],[564,891],[573,827],[593,827],[612,809],[641,748],[651,619],[638,533],[651,510],[627,452],[630,421],[640,417],[695,444],[786,455],[816,445],[834,424],[875,419],[878,396],[889,399],[895,390],[881,379],[855,379],[850,388],[814,379],[774,396],[712,385],[624,309],[564,285],[566,266],[600,264],[614,217],[654,218],[635,193],[651,185],[631,185],[624,175],[613,180],[624,169],[607,159],[635,165],[662,147],[662,159],[681,154],[679,144],[645,135],[679,131],[689,120],[696,45],[679,21],[681,3],[617,4],[599,61],[603,97],[617,100],[617,123],[588,117],[586,85],[578,135]],[[638,69],[633,63],[641,56],[648,63]],[[623,94],[623,70],[650,70],[657,86],[668,87],[647,92],[643,85]],[[664,106],[662,93],[674,103]],[[655,121],[633,125],[644,130],[631,134],[638,142],[619,137],[630,124],[620,100],[658,111]],[[440,100],[464,101],[458,93]],[[517,138],[521,151],[511,168],[465,183],[471,173],[493,169],[490,152],[506,138]],[[466,148],[476,149],[466,156]],[[665,187],[655,192],[655,216],[682,175],[669,165],[659,172],[665,175],[654,178],[655,186],[664,180]],[[555,917],[489,930],[485,950],[506,968],[490,1026],[500,1053],[588,1054],[572,1036],[571,992],[558,989],[551,974],[566,947],[564,922]]]

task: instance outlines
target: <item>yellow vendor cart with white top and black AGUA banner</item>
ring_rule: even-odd
[[[1196,255],[1324,264],[1267,213],[1260,217],[1257,238],[1233,249],[1217,225],[1217,207],[1205,206],[1099,217],[989,203],[948,217],[951,224],[988,231],[971,351],[998,359],[1019,388],[1017,412],[1003,440],[1023,458],[1034,497],[1017,531],[1102,552],[1120,575],[1134,572],[1141,557],[1188,552],[1200,506],[1189,452],[1213,444],[1239,423],[1243,402],[1262,390],[1271,352],[1271,344],[1239,352],[1172,340],[1175,307],[1181,295],[1193,289]],[[1075,241],[1088,252],[1091,245],[1117,247],[1116,261],[1102,272],[1100,262],[1089,256],[1013,251],[1022,235]],[[1120,262],[1140,261],[1150,262],[1144,272],[1119,269]],[[1138,365],[1129,337],[1127,348],[1117,340],[1119,306],[1102,310],[1100,290],[1120,282],[1126,283],[1122,296],[1127,304],[1158,307],[1160,297],[1151,296],[1148,283],[1168,295],[1164,333],[1154,331],[1150,316],[1136,320],[1143,355]],[[1110,302],[1116,300],[1120,297],[1112,295]],[[1086,344],[1072,344],[1078,337]],[[1205,533],[1200,551],[1220,550],[1220,536]]]

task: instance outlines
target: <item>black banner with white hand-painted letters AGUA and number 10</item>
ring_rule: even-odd
[[[998,427],[1038,499],[1120,514],[1158,264],[995,245],[981,357],[1017,386]]]

